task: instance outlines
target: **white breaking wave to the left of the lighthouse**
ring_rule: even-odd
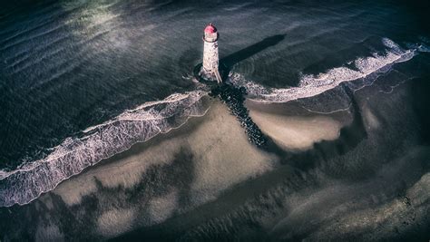
[[[0,207],[29,203],[100,160],[179,127],[191,116],[203,115],[206,110],[201,98],[206,94],[172,94],[160,102],[147,102],[83,131],[83,137],[65,139],[42,160],[1,171]]]

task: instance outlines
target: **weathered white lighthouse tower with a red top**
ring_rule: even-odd
[[[200,70],[200,76],[206,80],[222,82],[219,71],[219,54],[218,54],[218,34],[217,28],[211,23],[204,29],[203,35],[203,66]]]

